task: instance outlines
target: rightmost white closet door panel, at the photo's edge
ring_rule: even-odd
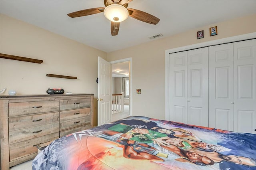
[[[234,43],[234,131],[256,133],[256,40]]]

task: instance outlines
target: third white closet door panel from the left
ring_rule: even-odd
[[[233,44],[209,47],[209,127],[233,130]]]

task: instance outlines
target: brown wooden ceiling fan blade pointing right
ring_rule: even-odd
[[[146,12],[135,10],[132,8],[127,8],[127,10],[129,12],[129,16],[137,20],[140,20],[149,24],[154,24],[154,25],[156,25],[160,21],[159,18],[156,18],[155,16],[152,16],[151,14],[148,14]]]

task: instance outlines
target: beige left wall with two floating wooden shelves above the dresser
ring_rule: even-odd
[[[46,94],[48,88],[72,93],[94,93],[94,125],[97,123],[98,56],[107,53],[25,22],[0,15],[0,53],[41,59],[29,63],[0,58],[0,89],[14,89],[18,95]],[[46,74],[78,77],[62,79]]]

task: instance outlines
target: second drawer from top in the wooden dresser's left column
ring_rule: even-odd
[[[59,112],[9,118],[9,131],[35,127],[59,121]]]

